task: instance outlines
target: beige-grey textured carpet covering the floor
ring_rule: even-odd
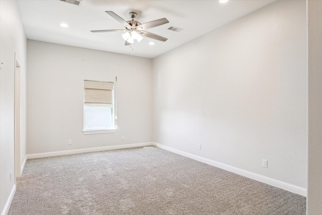
[[[8,214],[296,215],[305,206],[303,196],[152,147],[28,160]]]

